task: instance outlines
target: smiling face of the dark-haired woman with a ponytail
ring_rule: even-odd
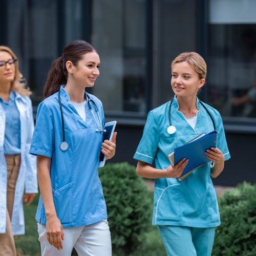
[[[76,66],[72,62],[67,61],[67,70],[72,74],[76,84],[85,87],[94,86],[94,82],[99,76],[99,66],[100,60],[97,52],[84,54]]]

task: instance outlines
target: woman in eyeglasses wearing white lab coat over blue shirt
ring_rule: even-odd
[[[0,46],[0,254],[16,255],[13,235],[25,233],[24,201],[37,193],[36,158],[29,154],[34,130],[31,92],[20,80],[12,50]]]

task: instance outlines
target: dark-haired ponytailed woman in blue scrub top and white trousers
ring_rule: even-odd
[[[98,166],[100,151],[115,155],[116,133],[102,143],[102,103],[85,90],[99,66],[88,42],[73,41],[54,61],[38,106],[30,153],[37,155],[42,255],[71,255],[73,247],[78,255],[111,255]]]

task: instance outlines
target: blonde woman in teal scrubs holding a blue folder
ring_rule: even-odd
[[[155,179],[153,225],[172,256],[210,256],[215,227],[220,225],[211,178],[220,175],[230,155],[221,115],[197,98],[205,78],[206,63],[198,53],[181,53],[174,59],[170,84],[175,96],[148,114],[134,155],[137,174]],[[213,130],[218,131],[218,143],[205,152],[209,162],[180,181],[188,159],[172,166],[167,155]],[[154,160],[156,168],[151,166]]]

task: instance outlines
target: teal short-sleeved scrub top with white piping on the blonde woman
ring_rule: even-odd
[[[170,117],[176,126],[176,133],[168,134],[169,104],[167,102],[148,113],[143,136],[134,158],[148,164],[155,160],[156,168],[169,166],[167,155],[201,133],[214,130],[214,124],[207,111],[197,99],[197,122],[194,129],[178,111],[176,97],[173,100]],[[218,134],[217,147],[230,158],[220,113],[204,104],[214,119]],[[215,227],[220,225],[217,197],[210,177],[210,166],[204,164],[183,181],[174,178],[155,179],[153,225],[175,225],[189,227]]]

